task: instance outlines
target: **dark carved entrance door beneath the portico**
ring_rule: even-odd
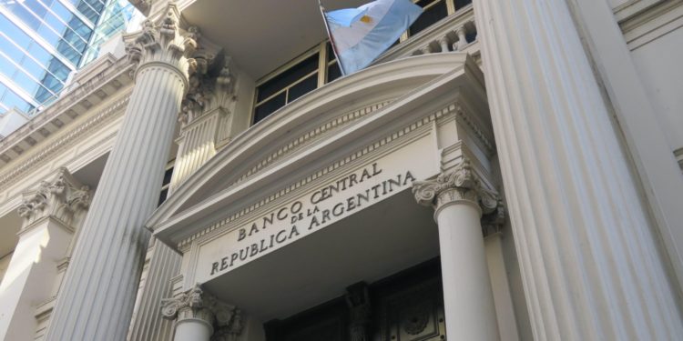
[[[265,325],[268,341],[428,341],[445,338],[439,259]]]

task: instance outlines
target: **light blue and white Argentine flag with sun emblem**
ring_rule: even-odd
[[[325,13],[325,25],[342,75],[370,65],[423,12],[410,0],[377,0],[358,8]]]

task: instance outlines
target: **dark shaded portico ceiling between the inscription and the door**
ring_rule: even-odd
[[[433,209],[410,190],[204,284],[262,321],[284,318],[439,255]]]

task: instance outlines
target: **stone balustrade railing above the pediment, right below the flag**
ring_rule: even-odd
[[[424,55],[440,52],[466,52],[479,59],[479,44],[474,23],[472,5],[443,18],[442,21],[425,28],[399,45],[393,46],[373,64],[380,64],[411,55]]]

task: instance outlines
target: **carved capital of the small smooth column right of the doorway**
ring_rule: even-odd
[[[500,205],[498,195],[482,186],[467,158],[454,170],[441,173],[434,180],[413,183],[413,195],[418,204],[433,206],[437,211],[444,205],[466,201],[479,207],[484,215],[496,211]]]

